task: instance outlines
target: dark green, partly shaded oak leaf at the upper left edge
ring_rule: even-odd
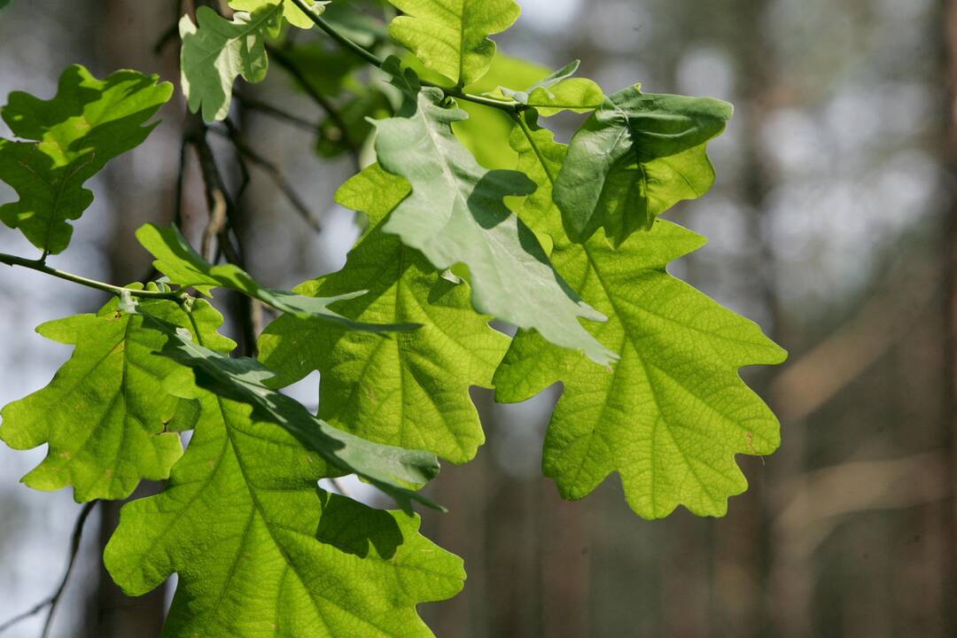
[[[36,248],[62,253],[77,220],[93,203],[83,184],[110,160],[143,143],[146,124],[172,95],[158,76],[118,71],[106,79],[74,65],[54,99],[11,93],[4,121],[20,140],[0,139],[0,180],[20,196],[0,206],[0,220]]]

